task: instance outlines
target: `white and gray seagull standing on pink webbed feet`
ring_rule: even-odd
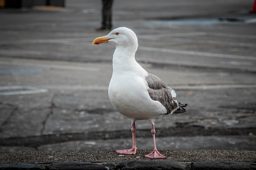
[[[165,114],[184,113],[187,104],[174,99],[176,93],[171,87],[137,63],[135,53],[138,39],[131,29],[116,28],[93,41],[93,44],[101,43],[110,43],[116,47],[113,54],[113,73],[108,87],[109,99],[119,113],[131,120],[132,148],[115,151],[118,154],[135,154],[135,121],[147,119],[152,125],[154,150],[145,157],[166,158],[157,150],[154,122]]]

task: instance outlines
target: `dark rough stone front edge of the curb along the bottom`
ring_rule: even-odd
[[[96,164],[89,162],[60,162],[42,168],[33,164],[0,165],[0,170],[256,170],[252,162],[198,161],[180,163],[177,161],[124,161]]]

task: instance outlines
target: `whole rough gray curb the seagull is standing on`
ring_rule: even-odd
[[[167,159],[118,155],[114,150],[0,153],[0,170],[256,170],[256,151],[160,150]]]

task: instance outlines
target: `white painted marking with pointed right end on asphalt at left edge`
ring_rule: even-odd
[[[47,92],[47,89],[29,86],[4,86],[0,87],[0,95],[32,94]]]

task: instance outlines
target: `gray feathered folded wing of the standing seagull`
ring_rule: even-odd
[[[159,77],[149,74],[146,81],[149,85],[148,92],[151,99],[159,101],[167,110],[166,114],[174,113],[180,108],[176,100],[172,98],[169,88]]]

